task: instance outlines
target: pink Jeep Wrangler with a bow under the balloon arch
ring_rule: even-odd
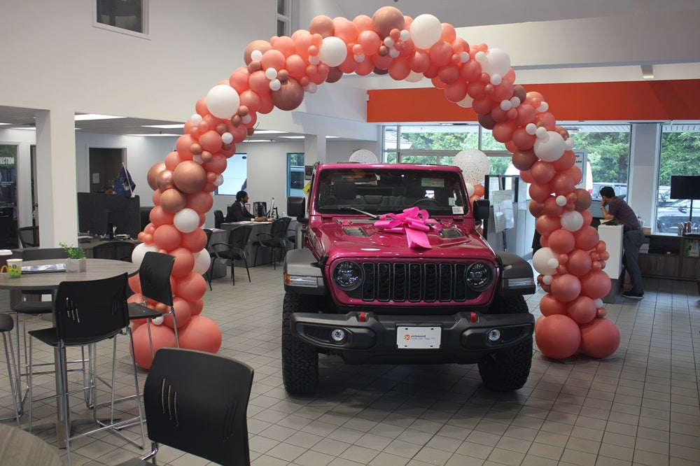
[[[532,359],[535,292],[521,257],[475,229],[457,167],[317,164],[287,211],[303,228],[284,264],[282,374],[318,390],[318,353],[347,364],[479,365],[485,386],[521,388]]]

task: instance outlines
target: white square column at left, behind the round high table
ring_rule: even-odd
[[[77,244],[76,136],[73,111],[36,111],[36,186],[39,241]]]

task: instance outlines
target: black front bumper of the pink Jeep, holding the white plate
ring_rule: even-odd
[[[352,311],[345,314],[293,313],[290,326],[292,333],[306,343],[323,352],[341,355],[349,364],[472,363],[487,353],[530,338],[535,318],[530,313],[379,316]],[[439,347],[399,348],[397,332],[400,327],[440,327]],[[493,330],[500,332],[496,341],[489,339]],[[342,339],[333,339],[341,333]]]

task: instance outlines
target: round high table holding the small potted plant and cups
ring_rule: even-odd
[[[61,262],[60,259],[46,259],[46,260],[29,260],[27,262],[22,262],[22,265],[41,265],[41,264],[56,264]],[[18,292],[21,290],[57,290],[58,285],[62,281],[88,281],[88,280],[99,280],[100,278],[110,278],[123,274],[133,274],[139,270],[136,264],[132,262],[124,262],[123,260],[106,260],[106,259],[87,259],[87,267],[85,271],[67,273],[67,272],[54,272],[48,274],[22,274],[18,278],[10,278],[8,274],[0,274],[0,290],[10,290],[10,292]],[[11,299],[10,299],[11,300]],[[54,350],[54,360],[58,361],[58,349]],[[65,351],[65,350],[64,350]],[[19,358],[19,355],[18,355]],[[60,379],[59,367],[56,367],[56,393],[59,393],[61,386],[66,388],[67,381]],[[63,372],[65,373],[65,372]],[[67,390],[67,388],[66,388]],[[57,420],[56,420],[56,437],[59,441],[59,445],[63,446],[66,439],[66,432],[63,432],[64,418],[70,417],[69,413],[64,414],[59,408],[57,409]],[[29,464],[29,463],[27,463]]]

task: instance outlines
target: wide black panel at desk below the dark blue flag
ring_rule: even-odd
[[[78,192],[78,228],[90,234],[116,234],[136,238],[141,232],[139,197]]]

